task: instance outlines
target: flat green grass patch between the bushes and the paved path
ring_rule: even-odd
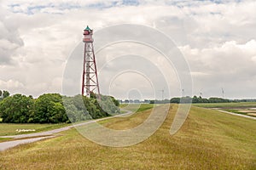
[[[55,128],[66,127],[71,124],[61,123],[61,124],[15,124],[15,123],[0,123],[0,136],[24,134],[22,132],[16,132],[16,129],[35,129],[35,132],[26,133],[38,133],[43,131],[52,130]]]

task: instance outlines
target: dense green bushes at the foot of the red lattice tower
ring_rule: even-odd
[[[97,100],[95,95],[43,94],[33,99],[31,95],[14,94],[1,98],[0,117],[8,123],[79,122],[119,114],[118,105],[116,99],[103,95]]]

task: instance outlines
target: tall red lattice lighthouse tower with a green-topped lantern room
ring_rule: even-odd
[[[96,59],[93,48],[93,30],[89,26],[84,29],[84,67],[82,81],[82,95],[99,94],[100,88],[96,70]]]

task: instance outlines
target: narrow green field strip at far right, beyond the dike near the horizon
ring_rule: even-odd
[[[256,102],[240,102],[240,103],[204,103],[204,104],[193,104],[198,107],[204,108],[247,108],[256,107]]]

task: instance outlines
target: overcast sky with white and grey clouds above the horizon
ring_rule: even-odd
[[[136,24],[172,39],[189,65],[193,95],[222,97],[223,88],[225,98],[256,98],[255,9],[253,0],[0,0],[0,89],[35,97],[63,93],[62,77],[85,26],[97,32]],[[104,48],[96,55],[102,94],[119,99],[161,99],[162,89],[164,98],[189,94],[175,65],[168,69],[158,61],[160,54],[141,44]],[[130,72],[119,70],[129,65]],[[165,71],[166,84],[158,80]],[[79,93],[80,82],[71,83]]]

